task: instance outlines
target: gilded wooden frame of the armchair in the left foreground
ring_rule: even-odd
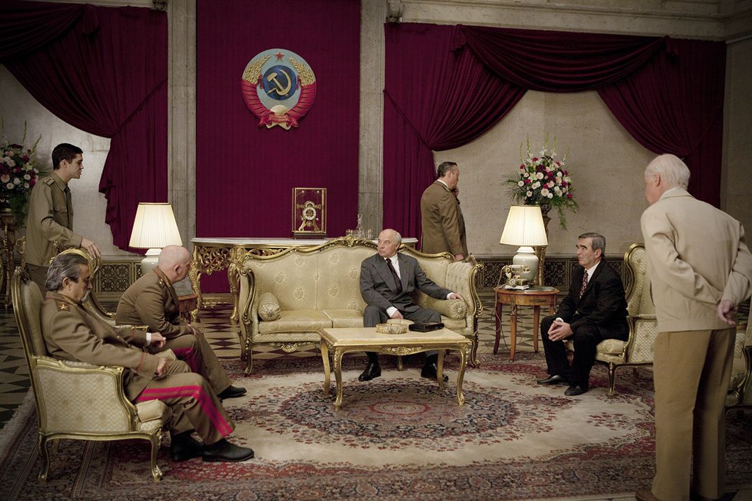
[[[50,470],[50,456],[47,442],[53,440],[57,443],[59,439],[76,439],[76,440],[125,440],[125,439],[144,439],[150,442],[150,471],[153,481],[159,481],[162,478],[162,470],[159,469],[156,459],[159,453],[159,447],[162,444],[162,427],[152,427],[150,430],[139,430],[141,420],[138,415],[137,407],[128,400],[124,389],[125,369],[123,367],[107,367],[85,364],[83,362],[61,361],[49,356],[40,355],[36,352],[32,341],[32,332],[29,327],[29,318],[27,316],[27,306],[24,304],[24,294],[22,287],[37,288],[37,285],[29,279],[28,273],[21,267],[17,267],[11,282],[11,296],[13,297],[14,315],[18,325],[18,330],[23,343],[23,352],[26,355],[26,362],[29,364],[29,376],[34,391],[37,417],[39,424],[37,447],[41,455],[42,466],[38,478],[40,481],[46,481]],[[102,387],[87,388],[86,376],[96,376],[96,379],[104,379],[109,382],[111,394],[107,395],[108,405],[114,406],[118,412],[125,417],[123,422],[126,426],[117,432],[97,432],[96,430],[59,430],[56,429],[53,419],[50,419],[46,391],[50,391],[51,397],[54,397],[54,391],[47,388],[45,380],[42,377],[44,373],[52,373],[51,379],[62,375],[69,375],[76,379],[81,378],[83,384],[80,385],[80,394],[102,392]],[[104,378],[102,377],[104,376]],[[114,388],[114,390],[112,389]],[[104,388],[105,391],[108,388]],[[101,393],[98,394],[101,397]],[[159,402],[162,406],[163,403]],[[166,406],[165,406],[166,409]]]

